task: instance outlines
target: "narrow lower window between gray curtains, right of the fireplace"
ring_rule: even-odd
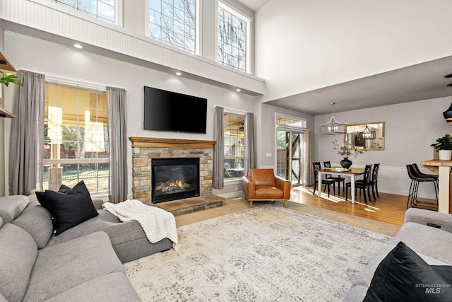
[[[245,159],[245,116],[225,112],[223,127],[225,137],[225,178],[238,178],[244,175]]]

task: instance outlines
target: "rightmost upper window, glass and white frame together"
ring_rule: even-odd
[[[218,2],[218,62],[241,71],[247,70],[250,22]]]

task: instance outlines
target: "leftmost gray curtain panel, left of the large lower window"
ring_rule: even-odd
[[[17,86],[14,96],[17,118],[11,123],[9,193],[28,195],[37,180],[42,184],[45,76],[25,70],[19,70],[17,76],[25,86]]]

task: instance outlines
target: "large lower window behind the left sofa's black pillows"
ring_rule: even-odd
[[[42,190],[83,180],[91,194],[109,190],[105,90],[46,83]]]

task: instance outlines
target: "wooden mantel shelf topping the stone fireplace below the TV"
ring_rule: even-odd
[[[141,148],[206,148],[213,149],[215,141],[195,139],[160,139],[156,137],[129,137],[132,147]]]

